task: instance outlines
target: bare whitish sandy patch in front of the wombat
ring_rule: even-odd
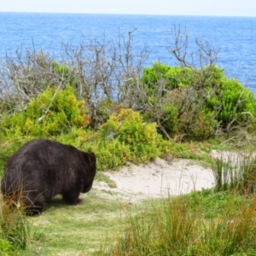
[[[118,172],[104,174],[117,184],[117,188],[111,189],[108,184],[97,181],[93,188],[106,192],[109,197],[124,195],[129,201],[187,194],[214,186],[212,170],[199,166],[192,160],[168,162],[158,158],[148,164],[131,164]]]

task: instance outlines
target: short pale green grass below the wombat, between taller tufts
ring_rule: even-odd
[[[30,252],[91,255],[108,232],[119,229],[124,207],[125,202],[104,199],[95,190],[84,196],[83,203],[78,206],[67,206],[60,196],[56,196],[41,216],[29,218],[32,230],[44,234],[43,239],[32,242]]]

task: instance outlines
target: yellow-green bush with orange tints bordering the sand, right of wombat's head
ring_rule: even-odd
[[[99,137],[106,141],[107,145],[114,138],[120,145],[124,145],[124,148],[129,148],[127,160],[132,162],[154,159],[162,150],[163,139],[157,133],[157,125],[144,123],[140,113],[131,109],[121,109],[119,113],[113,113],[108,121],[100,126]]]

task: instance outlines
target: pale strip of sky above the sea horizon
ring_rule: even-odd
[[[0,0],[0,12],[256,17],[256,0]]]

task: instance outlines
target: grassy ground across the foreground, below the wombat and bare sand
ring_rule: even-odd
[[[139,205],[117,200],[111,189],[92,189],[78,206],[56,196],[36,218],[2,208],[0,255],[255,255],[256,160],[216,162],[208,144],[187,143],[174,150],[177,157],[212,163],[217,188]],[[233,172],[242,177],[239,182]],[[103,172],[96,179],[116,186]]]

